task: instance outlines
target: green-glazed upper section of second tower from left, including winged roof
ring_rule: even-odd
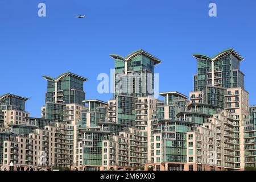
[[[42,118],[63,121],[63,109],[67,104],[82,105],[85,100],[84,81],[87,78],[66,72],[47,80],[46,106],[42,108]]]

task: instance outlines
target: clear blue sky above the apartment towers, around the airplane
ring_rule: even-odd
[[[38,16],[40,2],[45,18]],[[210,2],[217,4],[216,18],[208,16]],[[255,9],[254,0],[1,0],[0,95],[30,98],[26,110],[40,117],[42,75],[70,71],[89,78],[86,99],[107,101],[112,94],[97,93],[97,76],[113,68],[109,53],[126,56],[140,48],[163,60],[155,69],[160,92],[188,95],[197,66],[192,53],[212,56],[233,47],[245,57],[241,70],[256,104]],[[79,14],[87,17],[73,17]]]

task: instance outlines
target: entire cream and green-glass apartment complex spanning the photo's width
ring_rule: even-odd
[[[114,98],[85,100],[86,78],[47,79],[42,118],[29,117],[27,98],[0,97],[0,166],[79,170],[242,170],[256,167],[256,107],[234,49],[197,59],[189,97],[153,97],[159,59],[139,50],[115,60]],[[148,77],[151,74],[152,77]],[[125,90],[125,92],[123,92]]]

